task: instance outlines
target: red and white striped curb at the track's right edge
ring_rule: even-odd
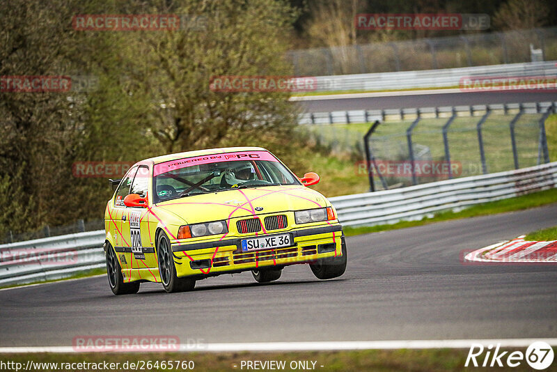
[[[499,242],[464,256],[465,261],[489,263],[557,263],[557,240],[528,242],[525,235]]]

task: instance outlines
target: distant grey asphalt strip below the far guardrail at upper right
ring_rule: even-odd
[[[328,112],[363,109],[399,109],[418,107],[469,106],[557,100],[557,92],[459,92],[441,94],[388,95],[369,98],[334,98],[300,101],[307,112]]]

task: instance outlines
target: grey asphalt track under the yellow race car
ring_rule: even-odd
[[[557,336],[557,265],[483,265],[464,253],[557,225],[557,204],[347,238],[347,272],[307,265],[279,281],[250,273],[189,293],[142,284],[116,297],[106,277],[0,291],[0,346],[71,346],[75,336],[168,335],[182,343],[506,339]]]

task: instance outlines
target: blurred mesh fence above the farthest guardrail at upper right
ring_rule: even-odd
[[[297,76],[552,61],[557,59],[557,27],[295,50],[288,58]]]

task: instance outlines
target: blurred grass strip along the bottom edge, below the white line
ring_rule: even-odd
[[[506,349],[505,349],[506,350]],[[521,350],[524,349],[513,349]],[[503,350],[501,350],[503,351]],[[194,371],[221,372],[221,371],[246,371],[246,366],[241,368],[244,361],[285,361],[285,369],[281,371],[304,371],[304,369],[290,369],[292,361],[314,361],[315,371],[336,372],[336,371],[414,371],[414,372],[441,372],[441,371],[469,371],[464,368],[466,356],[469,350],[455,349],[431,349],[431,350],[359,350],[359,351],[338,351],[338,352],[137,352],[137,353],[112,353],[101,352],[88,354],[59,354],[59,353],[40,353],[40,354],[4,354],[0,355],[0,362],[21,363],[25,368],[28,360],[33,362],[45,363],[100,363],[113,362],[120,363],[119,368],[114,371],[123,371],[125,362],[148,362],[157,361],[193,361]],[[507,353],[508,355],[508,353]],[[481,355],[480,358],[485,356]],[[483,359],[478,359],[483,362]],[[505,358],[503,358],[503,364]],[[311,363],[309,364],[312,365]],[[100,371],[101,369],[71,369],[71,371]],[[132,371],[128,364],[127,371]],[[322,366],[322,367],[321,367]],[[515,368],[497,367],[496,371],[528,371],[528,364],[522,361],[520,366]],[[145,367],[146,369],[146,367]],[[15,369],[14,369],[15,370]],[[54,369],[35,369],[35,371],[51,371]],[[146,369],[149,371],[149,369]],[[150,369],[157,371],[157,369]],[[162,369],[159,369],[162,370]],[[491,369],[487,369],[491,371]],[[168,369],[167,369],[168,371]],[[172,369],[172,371],[185,371],[184,369]],[[268,371],[268,369],[265,369]]]

